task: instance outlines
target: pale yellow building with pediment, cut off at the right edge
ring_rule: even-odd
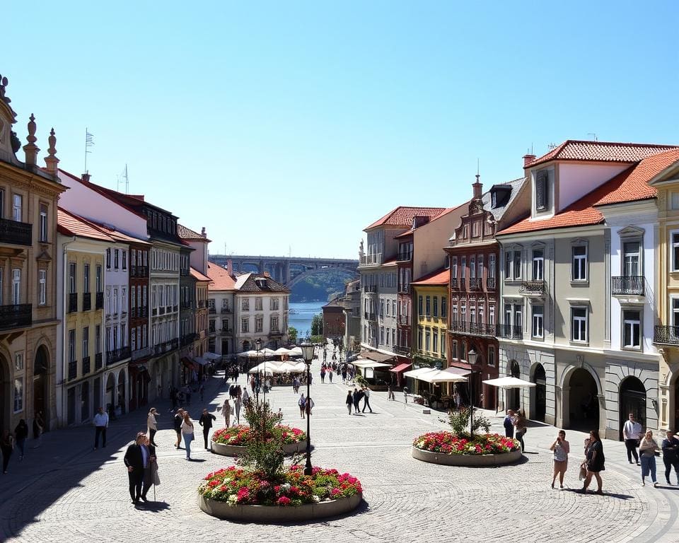
[[[679,428],[679,150],[663,153],[668,166],[651,180],[658,190],[656,326],[663,355],[658,375],[658,426]]]

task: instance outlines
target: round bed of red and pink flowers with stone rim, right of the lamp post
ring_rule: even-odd
[[[436,464],[500,465],[521,458],[521,444],[498,433],[481,433],[470,440],[448,431],[430,432],[413,440],[412,456]]]

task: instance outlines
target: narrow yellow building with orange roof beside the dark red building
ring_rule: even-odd
[[[450,269],[439,269],[414,281],[412,361],[414,366],[446,367],[446,323],[448,321],[448,281]],[[417,387],[429,385],[415,381]],[[445,385],[444,385],[445,386]]]

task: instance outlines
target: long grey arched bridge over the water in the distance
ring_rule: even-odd
[[[323,273],[324,270],[344,269],[358,277],[359,261],[344,258],[263,257],[262,255],[210,255],[210,262],[227,266],[231,261],[233,273],[245,274],[265,271],[279,283],[292,288],[306,277]]]

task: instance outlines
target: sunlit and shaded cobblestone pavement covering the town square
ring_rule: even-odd
[[[332,385],[320,384],[318,361],[313,369],[313,464],[361,479],[365,503],[354,515],[274,527],[205,515],[196,504],[200,479],[233,460],[203,450],[202,434],[197,433],[195,460],[187,462],[185,452],[173,448],[166,402],[156,404],[163,416],[156,435],[161,485],[155,504],[134,508],[129,503],[122,456],[146,421],[143,411],[135,412],[111,424],[105,450],[92,450],[93,428],[69,428],[46,434],[42,447],[29,449],[23,462],[15,455],[10,473],[0,479],[0,541],[679,541],[679,486],[642,488],[639,468],[627,463],[622,443],[604,442],[604,496],[574,491],[581,486],[577,467],[585,437],[575,431],[567,432],[573,451],[568,488],[550,489],[547,448],[556,432],[541,424],[528,429],[527,454],[517,465],[470,469],[426,464],[410,456],[410,445],[421,433],[445,428],[438,420],[441,414],[423,414],[422,407],[403,404],[402,395],[388,402],[385,393],[375,392],[373,414],[349,416],[344,407],[347,387],[337,378]],[[204,405],[215,411],[225,393],[213,379]],[[274,409],[282,409],[285,424],[306,430],[291,387],[275,387],[267,399]],[[194,402],[194,419],[202,407]],[[493,418],[494,430],[502,431],[501,421]],[[218,423],[224,419],[219,417]],[[664,481],[663,469],[659,462],[659,481]]]

